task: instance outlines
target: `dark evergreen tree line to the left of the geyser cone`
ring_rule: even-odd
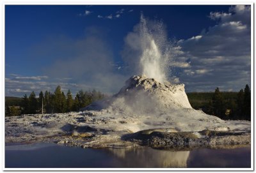
[[[6,116],[19,116],[21,114],[46,114],[65,113],[78,111],[79,109],[90,105],[90,103],[101,100],[106,94],[100,91],[83,91],[80,90],[73,99],[71,91],[68,89],[67,94],[61,91],[57,86],[54,93],[50,91],[40,91],[38,98],[34,91],[27,96],[24,94],[20,107],[9,106],[6,104]]]

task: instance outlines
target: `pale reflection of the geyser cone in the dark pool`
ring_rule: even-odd
[[[125,167],[187,167],[189,151],[164,151],[152,148],[108,149],[124,161]]]

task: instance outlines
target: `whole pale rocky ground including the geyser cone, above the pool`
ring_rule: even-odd
[[[159,149],[250,144],[250,121],[223,121],[191,108],[184,85],[134,76],[115,96],[65,114],[5,117],[5,142]]]

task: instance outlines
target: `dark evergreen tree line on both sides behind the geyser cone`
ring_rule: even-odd
[[[206,114],[218,116],[221,119],[246,119],[248,121],[251,119],[251,91],[248,85],[239,92],[221,92],[217,87],[214,93],[187,93],[187,95],[191,106],[194,109],[201,109]],[[20,98],[19,100],[10,98],[13,104],[15,102],[16,104],[6,102],[5,115],[41,114],[42,109],[47,114],[78,111],[102,98],[106,98],[106,94],[95,91],[95,89],[93,91],[80,90],[73,98],[70,90],[64,94],[58,86],[54,93],[41,91],[38,98],[34,91],[29,96],[25,94],[21,102]]]

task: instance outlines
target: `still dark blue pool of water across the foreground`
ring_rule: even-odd
[[[250,168],[251,149],[83,149],[43,143],[5,146],[5,164],[6,168]]]

